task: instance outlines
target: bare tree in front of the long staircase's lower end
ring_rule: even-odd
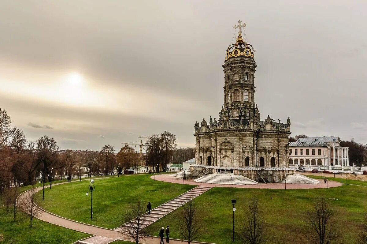
[[[144,240],[148,237],[149,230],[146,226],[145,207],[142,200],[138,199],[134,204],[131,204],[128,211],[123,215],[123,223],[121,233],[131,237],[136,244],[139,240]]]

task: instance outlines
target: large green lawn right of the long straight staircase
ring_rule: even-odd
[[[333,180],[330,177],[330,180]],[[340,181],[341,179],[339,179]],[[343,179],[343,183],[344,183]],[[352,186],[349,184],[367,185],[367,182],[348,180],[348,186],[333,187],[329,189],[240,189],[215,187],[195,199],[199,205],[202,234],[197,241],[212,243],[232,242],[232,204],[231,199],[236,199],[235,225],[238,227],[243,218],[243,209],[252,194],[255,194],[265,212],[266,230],[269,234],[269,243],[301,243],[299,238],[305,230],[304,216],[316,195],[325,195],[336,198],[332,202],[336,211],[339,227],[343,236],[335,243],[354,244],[358,232],[357,225],[363,218],[367,208],[366,187]],[[324,184],[324,183],[321,183]],[[152,235],[157,235],[158,230],[170,226],[171,238],[182,238],[178,235],[179,209],[168,214],[152,225]],[[238,228],[236,229],[238,230]],[[236,237],[235,243],[241,243]]]

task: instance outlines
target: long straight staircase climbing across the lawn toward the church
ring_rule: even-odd
[[[143,222],[142,227],[146,227],[154,222],[156,222],[158,219],[162,218],[163,216],[169,214],[170,212],[174,211],[175,209],[181,207],[186,202],[192,200],[193,198],[203,194],[207,190],[209,190],[211,187],[204,187],[204,186],[197,186],[189,191],[186,191],[182,195],[179,195],[178,197],[150,210],[150,215],[143,214]],[[123,229],[123,228],[131,228],[131,225],[134,225],[134,220],[131,221],[132,223],[128,222],[125,223],[123,226],[118,227],[117,229]]]

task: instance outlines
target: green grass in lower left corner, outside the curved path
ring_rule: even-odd
[[[57,225],[33,219],[29,227],[29,217],[18,212],[17,221],[13,221],[12,212],[6,214],[4,207],[0,208],[0,243],[1,244],[70,244],[90,234],[69,230]]]

